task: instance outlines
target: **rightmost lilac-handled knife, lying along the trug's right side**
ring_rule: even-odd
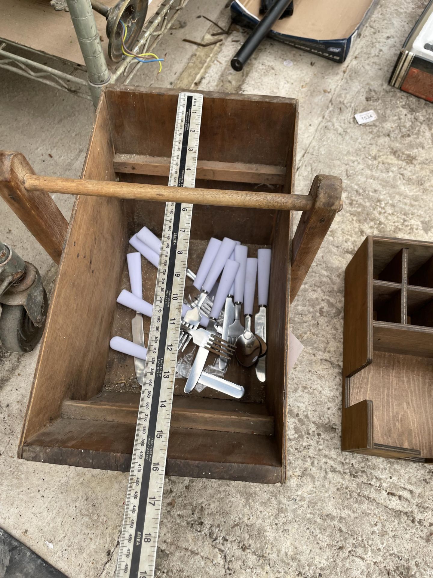
[[[259,312],[254,317],[255,334],[266,343],[266,307],[268,304],[269,278],[271,273],[270,249],[257,250],[257,285],[259,287]],[[259,381],[266,381],[266,354],[259,357],[256,364],[256,376]]]

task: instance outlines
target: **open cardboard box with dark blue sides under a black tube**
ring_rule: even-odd
[[[278,20],[269,35],[290,46],[344,62],[376,0],[296,0],[293,16]],[[238,24],[255,27],[262,19],[260,0],[234,0]]]

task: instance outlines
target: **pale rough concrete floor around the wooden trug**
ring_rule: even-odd
[[[181,42],[208,28],[193,16],[215,18],[225,5],[190,0],[186,28],[158,47],[167,53],[163,75],[143,66],[136,76],[143,85],[298,98],[296,192],[329,173],[342,177],[345,202],[292,307],[304,351],[290,379],[288,482],[167,478],[158,576],[433,576],[431,467],[339,450],[345,266],[368,234],[433,240],[425,197],[432,105],[387,84],[425,3],[379,0],[343,65],[267,40],[237,74],[227,63],[242,32],[212,49]],[[219,21],[228,18],[225,11]],[[0,148],[23,151],[36,172],[79,176],[91,106],[9,73],[2,80]],[[354,113],[369,109],[378,120],[357,125]],[[55,200],[68,215],[72,199]],[[0,239],[35,263],[48,287],[52,262],[4,204],[0,210]],[[0,525],[71,578],[112,577],[128,476],[16,458],[36,356],[0,349]]]

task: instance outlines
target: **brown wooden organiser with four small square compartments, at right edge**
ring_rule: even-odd
[[[433,243],[369,236],[346,268],[342,449],[433,460]]]

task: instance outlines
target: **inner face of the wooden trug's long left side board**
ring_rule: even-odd
[[[100,99],[84,175],[114,179],[113,142]],[[96,228],[97,227],[97,228]],[[51,295],[20,448],[53,422],[64,399],[86,399],[103,386],[123,261],[125,218],[118,199],[78,197]],[[97,446],[95,446],[97,447]],[[18,457],[20,456],[18,450]]]

